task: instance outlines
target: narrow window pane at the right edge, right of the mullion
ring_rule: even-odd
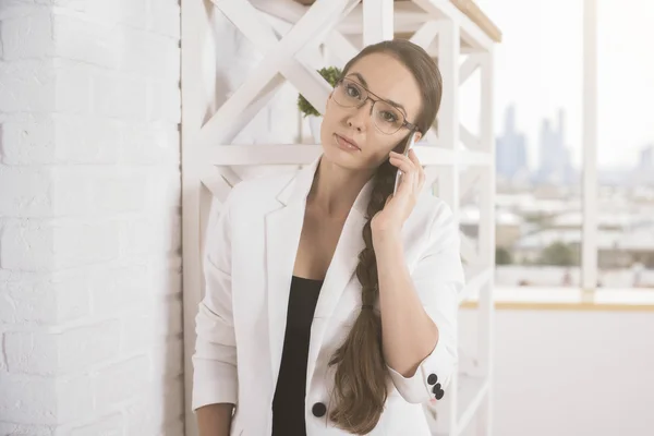
[[[597,281],[654,288],[654,3],[597,4]]]

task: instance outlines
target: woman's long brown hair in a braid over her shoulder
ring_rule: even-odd
[[[393,39],[365,47],[346,64],[343,76],[356,61],[372,53],[390,55],[411,71],[421,89],[422,106],[417,119],[410,121],[424,134],[436,119],[443,94],[443,80],[436,62],[409,40]],[[386,160],[374,175],[367,222],[363,228],[365,249],[359,254],[356,267],[356,277],[362,287],[362,310],[348,338],[329,362],[330,365],[337,365],[329,419],[338,427],[358,435],[375,428],[388,396],[388,373],[382,350],[382,318],[370,310],[379,295],[371,219],[382,210],[386,198],[392,193],[396,172],[397,168]]]

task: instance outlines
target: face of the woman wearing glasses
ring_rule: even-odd
[[[343,168],[375,169],[410,132],[407,128],[392,131],[402,120],[416,122],[422,105],[420,88],[409,69],[386,53],[363,57],[344,77],[340,89],[327,100],[320,129],[324,155]],[[370,96],[367,101],[351,106],[363,101],[361,94]],[[371,113],[373,100],[383,101],[375,104]]]

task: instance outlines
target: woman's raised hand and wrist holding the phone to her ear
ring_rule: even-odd
[[[379,210],[371,221],[373,240],[384,238],[388,234],[397,237],[402,225],[411,215],[417,195],[425,183],[425,172],[417,160],[413,149],[409,156],[390,152],[390,164],[402,171],[398,192],[389,195],[384,208]]]

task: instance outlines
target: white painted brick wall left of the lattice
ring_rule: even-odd
[[[0,0],[0,436],[183,434],[174,0]]]

